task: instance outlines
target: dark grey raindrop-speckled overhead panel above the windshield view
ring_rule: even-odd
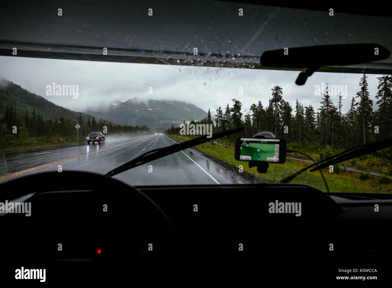
[[[391,21],[384,14],[341,13],[336,6],[329,16],[328,10],[207,0],[18,1],[0,10],[0,55],[15,57],[16,47],[17,56],[26,57],[304,71],[263,67],[260,56],[271,49],[340,43],[392,47]],[[392,54],[318,71],[388,74]]]

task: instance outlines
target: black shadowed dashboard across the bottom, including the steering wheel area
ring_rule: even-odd
[[[55,185],[76,173],[102,185]],[[56,267],[74,265],[82,267],[74,276],[83,278],[86,271],[108,273],[127,261],[133,271],[256,269],[268,277],[327,281],[346,267],[379,268],[379,276],[392,254],[388,194],[325,194],[300,184],[130,187],[87,172],[25,178],[3,183],[4,195],[33,178],[46,185],[20,192],[30,216],[1,215],[3,229],[16,227],[1,237],[2,255],[12,259],[4,269],[38,265],[52,269],[47,274],[54,278],[63,271]]]

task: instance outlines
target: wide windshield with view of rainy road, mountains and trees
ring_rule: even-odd
[[[295,71],[4,56],[0,63],[2,180],[53,170],[106,174],[150,150],[243,127],[113,177],[129,185],[279,182],[312,163],[302,153],[319,161],[391,136],[388,75],[316,72],[298,86]],[[83,135],[100,135],[91,130],[105,141],[87,142]],[[234,158],[236,138],[247,149],[261,131],[293,151],[265,174]],[[279,159],[275,148],[254,157]],[[323,168],[330,192],[391,193],[390,151]],[[319,171],[290,183],[326,191]]]

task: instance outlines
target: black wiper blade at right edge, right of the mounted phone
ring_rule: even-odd
[[[375,143],[369,143],[369,144],[365,144],[365,145],[359,145],[357,147],[348,149],[346,151],[340,152],[336,155],[333,155],[331,157],[325,158],[321,161],[318,161],[316,163],[313,163],[312,165],[309,165],[308,167],[303,168],[302,170],[299,170],[298,172],[286,177],[285,179],[279,181],[279,183],[289,183],[292,179],[296,178],[299,174],[301,174],[302,172],[305,172],[306,170],[308,170],[309,168],[313,167],[313,166],[317,166],[311,170],[309,170],[310,172],[313,171],[317,171],[319,169],[328,167],[329,165],[334,165],[352,158],[356,158],[377,150],[381,150],[381,149],[385,149],[388,147],[392,146],[392,140],[391,139],[385,139],[382,141],[378,141]]]

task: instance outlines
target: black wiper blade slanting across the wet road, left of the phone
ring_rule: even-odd
[[[172,153],[178,152],[180,150],[183,149],[187,149],[187,148],[191,148],[193,146],[199,145],[201,143],[205,143],[214,139],[218,139],[221,138],[223,136],[227,136],[227,135],[231,135],[237,132],[241,132],[243,131],[243,127],[238,128],[238,129],[232,129],[232,130],[227,130],[227,131],[223,131],[223,132],[219,132],[219,133],[215,133],[212,135],[211,138],[207,138],[207,135],[205,136],[201,136],[192,140],[188,140],[185,141],[183,143],[180,144],[174,144],[168,147],[162,147],[162,148],[158,148],[158,149],[154,149],[148,152],[145,152],[144,154],[128,161],[127,163],[114,168],[113,170],[107,172],[107,174],[105,174],[105,176],[109,176],[112,177],[116,174],[119,174],[121,172],[124,172],[126,170],[129,170],[131,168],[134,168],[136,166],[142,165],[144,163],[150,162],[152,160],[158,159],[158,158],[162,158],[164,156],[170,155]]]

